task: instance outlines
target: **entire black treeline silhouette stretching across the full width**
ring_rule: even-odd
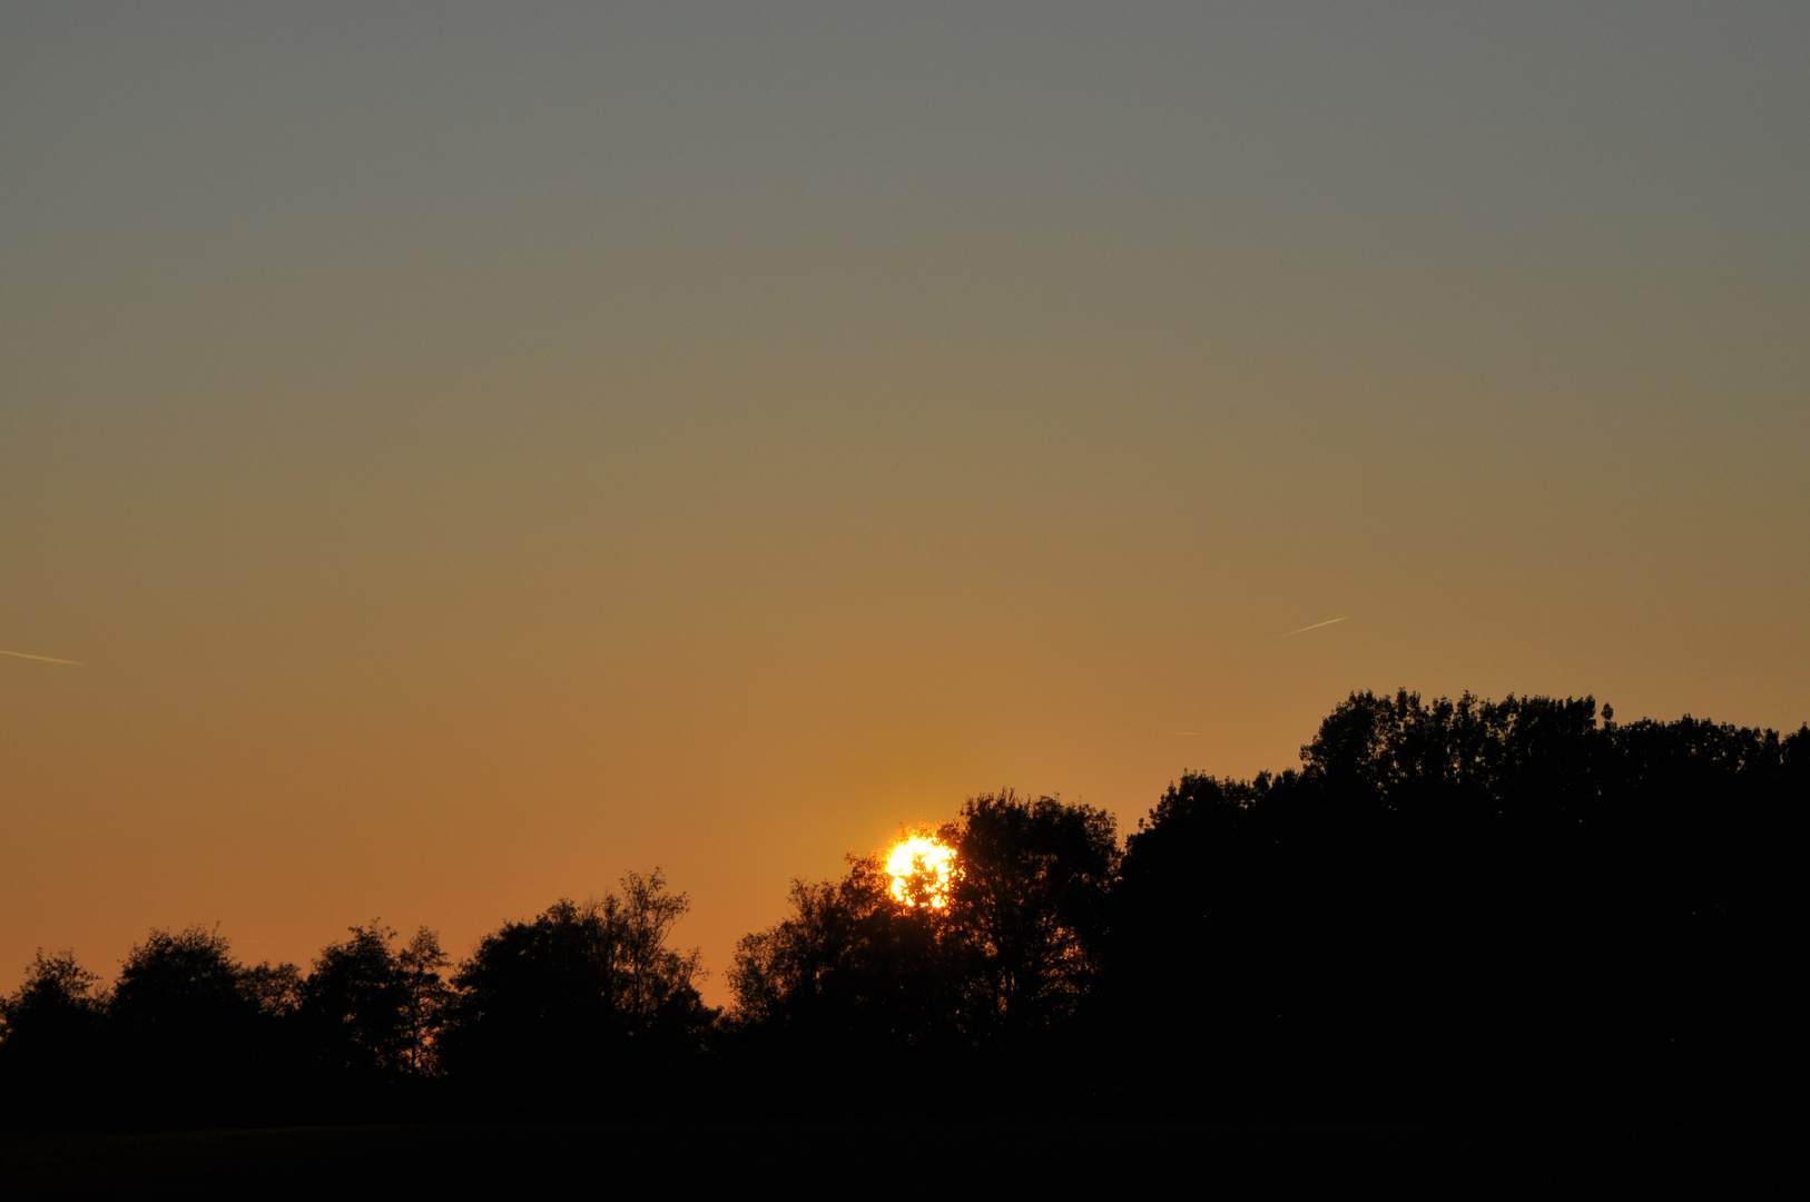
[[[14,1126],[648,1113],[688,1104],[1222,1113],[1761,1108],[1805,1068],[1810,728],[1356,693],[1301,768],[1186,775],[1120,845],[977,797],[957,871],[798,882],[706,1006],[659,873],[452,963],[355,927],[304,972],[154,930],[110,988],[0,1003]]]

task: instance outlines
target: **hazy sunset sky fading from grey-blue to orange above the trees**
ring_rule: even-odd
[[[1803,4],[0,7],[0,990],[1352,690],[1810,719]],[[1316,623],[1345,621],[1287,634]]]

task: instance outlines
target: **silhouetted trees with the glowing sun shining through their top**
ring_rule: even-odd
[[[872,1055],[1026,1045],[1075,1017],[1119,860],[1111,816],[1008,791],[968,800],[938,840],[956,853],[945,905],[894,898],[878,856],[793,882],[791,914],[737,947],[737,1028]]]

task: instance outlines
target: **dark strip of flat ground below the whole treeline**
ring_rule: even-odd
[[[0,1197],[1810,1197],[1801,1119],[711,1117],[0,1137]]]

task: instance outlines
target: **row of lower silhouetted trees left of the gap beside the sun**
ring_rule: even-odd
[[[217,930],[152,930],[112,988],[38,954],[0,1001],[0,1099],[16,1124],[411,1119],[595,1108],[684,1075],[720,1012],[661,873],[556,902],[452,965],[425,927],[353,927],[295,965],[243,965]],[[670,1084],[677,1084],[670,1081]]]

